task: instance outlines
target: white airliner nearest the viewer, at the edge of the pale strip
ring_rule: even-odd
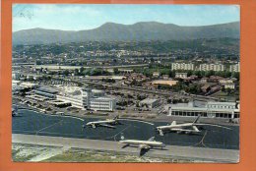
[[[152,137],[148,141],[138,141],[138,140],[121,140],[119,143],[125,143],[125,145],[122,146],[122,148],[127,146],[138,146],[140,148],[140,155],[143,154],[143,152],[148,151],[151,148],[160,147],[161,149],[165,147],[165,144],[162,142],[156,142],[155,137]]]

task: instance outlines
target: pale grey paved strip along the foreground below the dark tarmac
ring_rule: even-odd
[[[76,147],[86,149],[113,150],[119,152],[139,153],[139,149],[137,147],[128,146],[122,148],[123,144],[119,144],[118,142],[98,141],[89,139],[73,139],[62,137],[13,134],[12,142],[62,146],[65,148]],[[149,150],[146,153],[146,155],[166,157],[169,156],[177,159],[192,159],[205,162],[237,163],[239,161],[239,150],[177,145],[166,145],[164,149],[153,148]]]

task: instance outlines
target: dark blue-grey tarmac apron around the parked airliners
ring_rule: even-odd
[[[156,127],[166,125],[164,122],[138,122],[121,120],[116,129],[97,127],[83,128],[82,126],[96,118],[77,118],[74,116],[54,116],[40,114],[30,110],[20,110],[21,117],[13,117],[12,133],[38,136],[51,136],[75,139],[91,139],[118,142],[121,137],[134,140],[148,140],[155,136],[156,141],[168,145],[199,146],[208,148],[239,149],[239,127],[232,130],[204,126],[200,135],[185,135],[167,133],[161,137]],[[153,125],[154,124],[154,125]]]

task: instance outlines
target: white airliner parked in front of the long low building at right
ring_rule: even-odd
[[[163,131],[171,131],[171,132],[176,132],[176,133],[185,133],[185,134],[196,134],[200,133],[201,130],[198,129],[197,126],[213,126],[213,127],[220,127],[224,128],[227,130],[231,130],[228,127],[220,126],[220,125],[215,125],[215,124],[199,124],[197,121],[199,120],[200,115],[195,119],[194,122],[192,123],[184,123],[184,124],[177,124],[176,121],[173,121],[170,125],[166,126],[159,126],[157,127],[157,131],[160,133],[160,136],[163,136]]]

